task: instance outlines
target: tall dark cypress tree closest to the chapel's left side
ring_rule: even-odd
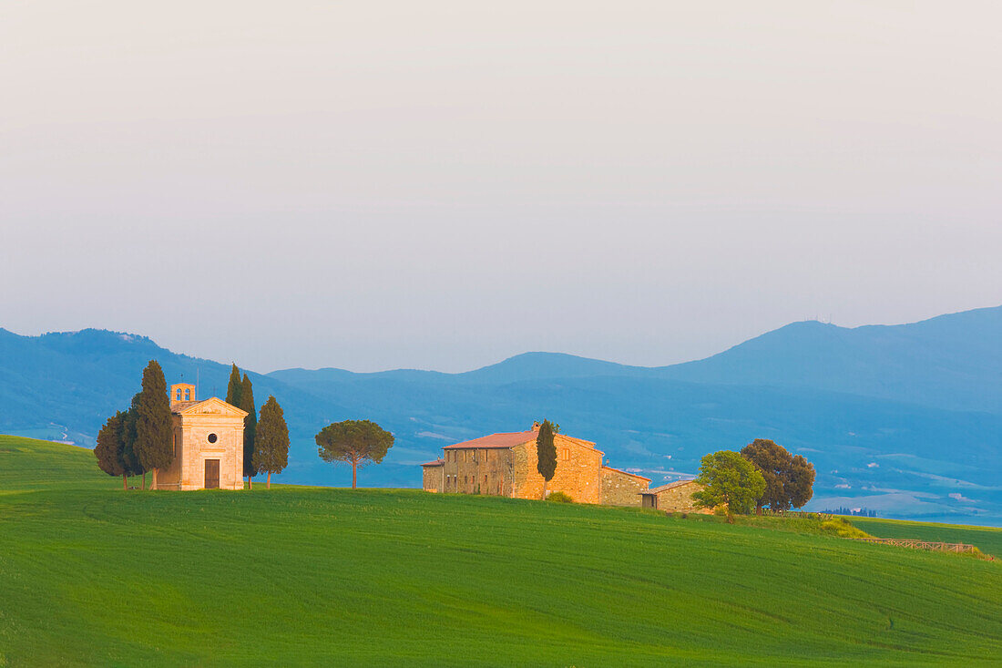
[[[146,470],[153,471],[153,488],[156,488],[156,471],[173,461],[173,421],[170,417],[170,400],[163,369],[156,360],[150,360],[142,371],[142,391],[135,405],[135,452]]]

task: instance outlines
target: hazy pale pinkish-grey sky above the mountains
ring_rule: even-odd
[[[260,371],[1002,303],[1002,4],[0,3],[0,327]]]

